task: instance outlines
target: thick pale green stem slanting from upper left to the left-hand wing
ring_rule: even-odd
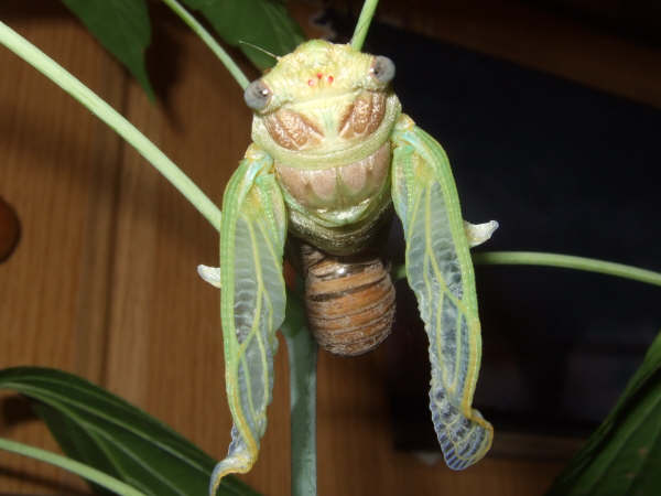
[[[64,67],[3,22],[0,22],[0,43],[77,99],[110,128],[115,129],[138,153],[156,168],[216,229],[220,229],[220,209],[131,122],[124,119]],[[10,76],[6,75],[6,77]]]

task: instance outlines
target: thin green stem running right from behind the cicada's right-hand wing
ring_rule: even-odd
[[[594,258],[539,251],[485,251],[474,254],[473,261],[483,266],[544,266],[605,273],[622,279],[661,285],[661,273]],[[404,266],[395,268],[394,279],[407,277]]]

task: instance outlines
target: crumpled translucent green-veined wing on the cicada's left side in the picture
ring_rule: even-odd
[[[223,201],[220,283],[225,381],[234,427],[210,494],[229,473],[246,473],[267,429],[275,331],[284,319],[282,252],[286,217],[272,160],[256,147],[235,172]]]

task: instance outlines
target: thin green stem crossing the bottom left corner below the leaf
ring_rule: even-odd
[[[121,481],[118,481],[115,477],[109,476],[108,474],[56,453],[51,453],[48,451],[40,450],[39,448],[29,446],[26,444],[10,441],[3,438],[0,438],[0,450],[18,453],[23,456],[29,456],[31,459],[58,466],[65,471],[91,481],[93,483],[98,484],[99,486],[105,487],[115,494],[121,494],[122,496],[144,496],[144,493],[141,493],[140,490],[129,486],[128,484],[124,484]]]

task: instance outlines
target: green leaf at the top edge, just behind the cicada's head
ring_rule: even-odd
[[[286,55],[305,41],[303,31],[273,0],[184,0],[191,9],[198,10],[216,32],[234,46],[239,46],[260,69],[272,67],[275,60],[259,50],[239,45],[251,43],[274,55]]]

